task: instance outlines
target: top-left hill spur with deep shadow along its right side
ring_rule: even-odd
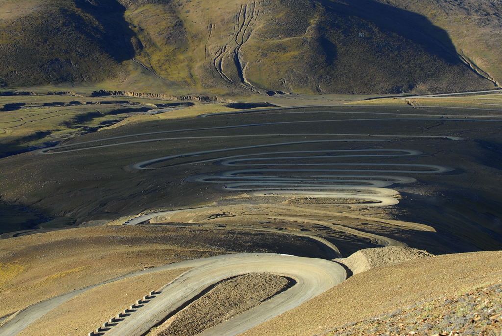
[[[121,6],[3,0],[0,7],[15,3],[12,11],[2,10],[0,20],[0,85],[92,83],[124,76],[119,63],[131,59],[134,49]]]

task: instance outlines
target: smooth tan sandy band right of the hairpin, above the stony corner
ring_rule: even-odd
[[[418,258],[370,269],[300,307],[243,333],[312,335],[391,313],[427,298],[449,297],[500,283],[502,251]]]

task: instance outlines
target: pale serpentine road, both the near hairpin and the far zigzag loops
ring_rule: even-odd
[[[318,106],[316,106],[318,107]],[[396,106],[393,106],[396,107]],[[402,106],[399,106],[402,107]],[[424,106],[430,108],[431,106]],[[298,107],[294,107],[298,108]],[[277,110],[281,110],[285,108],[278,108]],[[291,108],[293,109],[293,108]],[[473,109],[473,108],[472,108]],[[272,109],[267,109],[271,110]],[[483,109],[486,110],[486,109]],[[499,111],[499,110],[498,110]],[[249,112],[257,112],[257,110],[250,110]],[[247,113],[247,111],[239,111],[237,113]],[[289,112],[285,112],[289,113]],[[311,111],[311,112],[291,112],[291,113],[334,113],[334,114],[373,114],[379,115],[380,113],[365,113],[365,112],[350,112],[350,111]],[[236,113],[231,113],[236,114]],[[328,143],[332,142],[333,144],[337,142],[386,142],[392,141],[396,138],[431,138],[431,139],[445,139],[445,140],[460,140],[460,138],[449,137],[449,136],[409,136],[409,135],[366,135],[366,134],[356,134],[356,135],[348,135],[348,134],[275,134],[275,135],[237,135],[237,136],[224,136],[224,137],[182,137],[182,138],[160,138],[160,139],[148,139],[148,140],[140,140],[140,141],[126,141],[122,143],[116,144],[104,144],[104,145],[95,145],[97,142],[109,141],[109,140],[118,140],[118,139],[126,139],[131,137],[139,137],[139,136],[147,136],[147,135],[156,135],[156,134],[166,134],[166,133],[177,133],[177,132],[197,132],[197,131],[207,131],[207,130],[224,130],[224,129],[233,129],[233,128],[248,128],[248,127],[261,127],[267,125],[277,125],[281,126],[284,124],[302,124],[302,123],[336,123],[336,122],[361,122],[361,121],[461,121],[461,122],[473,122],[473,121],[492,121],[492,122],[500,122],[502,121],[502,116],[487,116],[487,117],[478,117],[478,116],[444,116],[444,115],[399,115],[399,114],[387,114],[381,113],[382,115],[394,115],[397,118],[367,118],[367,119],[341,119],[341,120],[302,120],[302,121],[292,121],[292,122],[272,122],[272,123],[256,123],[256,124],[242,124],[242,125],[231,125],[231,126],[218,126],[218,127],[207,127],[207,128],[198,128],[198,129],[187,129],[187,130],[175,130],[175,131],[162,131],[162,132],[153,132],[153,133],[143,133],[143,134],[133,134],[127,136],[119,136],[107,139],[99,139],[94,141],[87,141],[82,143],[75,143],[69,145],[62,145],[51,148],[44,148],[38,151],[39,154],[60,154],[65,152],[73,152],[80,150],[93,150],[100,149],[104,147],[112,147],[112,146],[124,146],[128,144],[138,144],[138,143],[147,143],[153,141],[164,141],[164,140],[190,140],[190,139],[212,139],[212,138],[236,138],[236,137],[257,137],[257,136],[309,136],[309,137],[326,137],[327,139],[320,140],[310,140],[310,141],[296,141],[296,142],[278,142],[273,144],[265,144],[265,145],[255,145],[255,146],[245,146],[231,149],[216,149],[210,151],[200,151],[200,152],[192,152],[192,153],[182,153],[171,155],[163,158],[156,158],[153,160],[140,162],[133,165],[131,168],[133,169],[156,169],[153,167],[148,167],[156,163],[166,162],[172,159],[178,158],[186,158],[186,157],[195,157],[200,154],[211,154],[211,153],[219,153],[227,150],[236,150],[236,149],[256,149],[256,148],[265,148],[272,146],[289,146],[296,144],[307,144],[307,143]],[[222,114],[217,114],[221,116]],[[209,117],[210,115],[205,115],[201,117]],[[408,117],[408,118],[403,118]],[[413,118],[413,117],[425,117],[425,118]],[[498,119],[497,119],[498,118]],[[331,136],[345,136],[350,137],[347,139],[330,139]],[[359,138],[364,137],[364,138]],[[382,139],[375,139],[374,137],[379,137]],[[368,139],[369,138],[369,139]],[[319,138],[317,138],[319,139]],[[78,147],[82,146],[83,147]],[[75,148],[77,146],[77,148]],[[325,151],[324,154],[331,153],[332,156],[329,157],[330,160],[335,160],[344,157],[396,157],[396,156],[412,156],[412,155],[420,155],[420,152],[415,150],[408,149],[383,149],[378,150],[378,153],[375,151],[374,153],[370,153],[372,150],[365,150],[361,152],[367,152],[369,154],[361,154],[357,153],[357,151],[352,150],[354,153],[352,155],[335,155],[340,154],[343,150],[334,149]],[[388,153],[385,153],[385,152]],[[315,151],[313,151],[315,152]],[[318,151],[323,152],[323,151]],[[350,152],[350,151],[346,151]],[[321,158],[320,156],[307,156],[302,151],[282,151],[282,152],[274,152],[274,153],[282,153],[287,154],[288,156],[283,157],[284,160],[328,160],[325,158]],[[291,156],[294,154],[300,154],[300,156]],[[302,154],[303,153],[303,154]],[[253,153],[248,155],[238,155],[233,157],[215,157],[211,159],[200,160],[197,162],[185,162],[181,164],[195,164],[202,162],[213,162],[217,165],[221,166],[255,166],[256,161],[262,160],[261,165],[270,166],[271,163],[267,162],[267,159],[272,159],[270,156],[267,158],[249,158],[249,156],[255,155],[267,155],[270,152],[262,152],[262,153]],[[314,153],[313,153],[314,154]],[[346,153],[351,154],[351,153]],[[274,158],[276,161],[277,157]],[[265,161],[264,161],[265,160]],[[254,162],[254,163],[252,163]],[[265,164],[264,164],[265,163]],[[176,163],[180,164],[180,163]],[[232,170],[226,172],[220,172],[213,175],[199,175],[195,176],[194,181],[203,182],[203,183],[225,183],[227,189],[230,190],[246,190],[251,194],[263,194],[270,195],[271,193],[278,193],[282,195],[299,195],[299,196],[307,196],[314,195],[315,197],[334,197],[335,193],[339,192],[338,195],[341,197],[353,196],[354,198],[361,198],[365,200],[374,200],[379,202],[379,204],[389,205],[395,204],[397,199],[393,196],[397,194],[396,191],[392,189],[387,189],[388,186],[394,183],[410,183],[410,181],[414,181],[412,177],[406,176],[392,176],[389,173],[410,173],[410,174],[423,174],[423,173],[442,173],[449,171],[449,168],[438,166],[438,165],[406,165],[406,164],[388,164],[388,163],[322,163],[322,162],[304,162],[301,164],[296,163],[278,163],[273,164],[274,166],[278,166],[277,169],[240,169],[240,170]],[[327,167],[327,169],[294,169],[293,168],[285,168],[283,169],[281,166],[309,166],[309,165],[334,165],[334,166],[361,166],[361,167],[353,167],[354,169],[333,169],[331,167]],[[390,168],[391,166],[395,168]],[[339,167],[341,168],[341,167]],[[359,169],[356,169],[359,168]],[[257,172],[259,172],[260,176],[257,176]],[[340,172],[346,172],[350,175],[340,174]],[[357,173],[357,174],[354,174]],[[367,174],[367,173],[376,173],[375,175]],[[263,175],[263,173],[267,175]],[[328,173],[328,175],[326,175]],[[333,174],[334,173],[334,174]],[[360,173],[360,174],[359,174]],[[383,174],[385,173],[385,175]],[[247,176],[246,176],[247,174]],[[331,174],[331,175],[329,175]],[[261,180],[259,180],[261,179]],[[352,184],[351,184],[352,183]],[[331,185],[334,184],[334,185]],[[347,189],[349,192],[347,193]],[[340,193],[341,192],[341,193]],[[336,197],[335,197],[336,198]],[[394,203],[393,203],[394,202]],[[364,203],[365,205],[371,205],[371,203]],[[357,205],[357,204],[355,204]],[[158,216],[159,213],[153,213],[145,216],[141,216],[138,218],[134,218],[128,221],[128,224],[139,223],[145,221],[147,219]],[[298,218],[288,218],[288,220],[297,220]],[[375,220],[380,220],[374,218]],[[339,227],[333,225],[330,222],[318,221],[320,225],[331,226],[333,229],[347,231],[344,227]],[[399,225],[396,221],[396,225]],[[347,231],[348,232],[348,231]],[[385,237],[375,237],[374,235],[368,236],[366,233],[362,233],[360,231],[350,231],[353,234],[365,234],[367,238],[376,239],[382,245],[395,245],[400,244],[397,241],[389,240]],[[204,331],[202,334],[206,335],[233,335],[239,332],[242,332],[250,327],[260,324],[261,322],[270,319],[274,316],[277,316],[303,302],[306,300],[313,298],[320,293],[332,288],[336,284],[340,283],[345,279],[345,271],[344,269],[333,262],[320,260],[320,259],[312,259],[312,258],[302,258],[302,257],[294,257],[294,256],[283,256],[276,254],[235,254],[235,255],[227,255],[227,256],[218,256],[212,258],[206,258],[202,260],[196,260],[191,262],[181,262],[175,265],[167,265],[164,267],[154,268],[151,270],[147,270],[146,272],[138,272],[132,275],[127,275],[124,277],[112,279],[106,281],[104,283],[110,283],[122,278],[136,276],[145,273],[152,273],[156,271],[175,269],[175,268],[186,268],[186,267],[196,267],[177,279],[173,282],[167,284],[163,289],[162,293],[156,297],[155,300],[152,300],[148,304],[146,304],[138,311],[134,312],[130,317],[124,319],[119,322],[117,325],[113,326],[110,330],[106,332],[106,335],[140,335],[143,332],[147,331],[150,327],[154,326],[157,321],[162,320],[166,315],[169,314],[170,311],[173,311],[186,301],[189,301],[191,298],[196,296],[198,293],[203,291],[208,286],[214,284],[215,282],[232,277],[239,274],[249,273],[249,272],[268,272],[274,274],[280,274],[284,276],[291,277],[297,281],[297,284],[291,289],[281,293],[274,298],[268,300],[264,304],[257,306],[254,309],[251,309],[227,322],[221,323],[213,328],[210,328]],[[52,298],[49,300],[42,301],[40,303],[34,304],[21,312],[19,312],[16,316],[13,316],[9,321],[7,321],[2,327],[0,327],[0,334],[11,336],[17,334],[27,325],[33,323],[40,316],[44,315],[49,310],[57,307],[62,302],[68,300],[69,298],[78,295],[88,289],[97,287],[104,283],[83,288],[78,291],[70,292],[58,296],[56,298]]]

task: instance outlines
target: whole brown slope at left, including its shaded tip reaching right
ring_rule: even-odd
[[[281,233],[172,226],[77,228],[0,241],[0,316],[144,268],[234,252],[322,257],[311,241]],[[110,265],[113,265],[110,267]]]

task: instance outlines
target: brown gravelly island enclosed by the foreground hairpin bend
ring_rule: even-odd
[[[194,335],[259,305],[290,284],[285,277],[266,273],[223,281],[148,335]]]

